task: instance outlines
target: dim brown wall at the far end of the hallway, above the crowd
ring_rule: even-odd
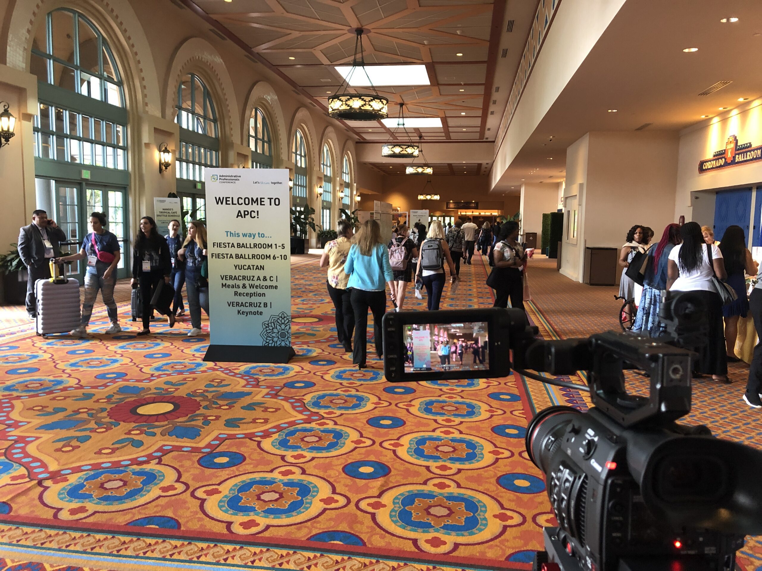
[[[488,176],[433,176],[431,185],[426,187],[425,194],[436,193],[440,200],[418,200],[418,193],[424,193],[427,177],[418,175],[386,176],[378,175],[379,180],[373,185],[376,194],[363,195],[361,202],[383,200],[399,206],[401,212],[410,209],[427,209],[431,214],[456,215],[456,210],[447,210],[448,200],[475,200],[479,209],[501,210],[511,217],[519,210],[519,196],[501,196],[487,192]],[[431,190],[434,187],[434,190]],[[362,206],[361,206],[362,207]]]

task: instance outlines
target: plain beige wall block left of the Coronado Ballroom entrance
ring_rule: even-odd
[[[578,244],[562,246],[566,276],[582,281],[584,247],[621,247],[632,225],[661,236],[676,222],[677,146],[671,132],[591,132],[569,148],[566,196],[583,190]]]

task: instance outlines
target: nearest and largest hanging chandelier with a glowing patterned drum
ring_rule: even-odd
[[[363,28],[358,27],[354,30],[357,38],[354,40],[354,59],[352,60],[352,69],[347,73],[347,77],[338,86],[336,93],[328,97],[328,116],[334,119],[344,119],[349,121],[376,121],[386,119],[389,116],[387,106],[389,100],[382,97],[373,87],[373,81],[370,81],[370,75],[365,71],[365,58],[363,56]],[[359,50],[358,50],[359,47]],[[358,56],[359,53],[359,56]],[[368,78],[372,94],[368,93],[350,93],[349,81],[354,75],[355,70],[360,68]]]

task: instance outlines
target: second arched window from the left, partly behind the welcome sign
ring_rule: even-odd
[[[217,114],[212,96],[201,79],[184,75],[178,85],[174,123],[180,125],[180,152],[175,161],[178,195],[183,202],[184,222],[205,220],[204,169],[219,167]]]

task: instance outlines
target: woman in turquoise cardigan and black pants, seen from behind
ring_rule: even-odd
[[[386,313],[386,284],[392,292],[392,301],[395,300],[389,252],[381,241],[381,227],[376,220],[363,222],[354,234],[347,262],[344,263],[344,273],[349,275],[347,289],[351,289],[350,301],[354,311],[352,362],[360,369],[367,366],[368,308],[373,312],[376,355],[383,359],[381,320]]]

